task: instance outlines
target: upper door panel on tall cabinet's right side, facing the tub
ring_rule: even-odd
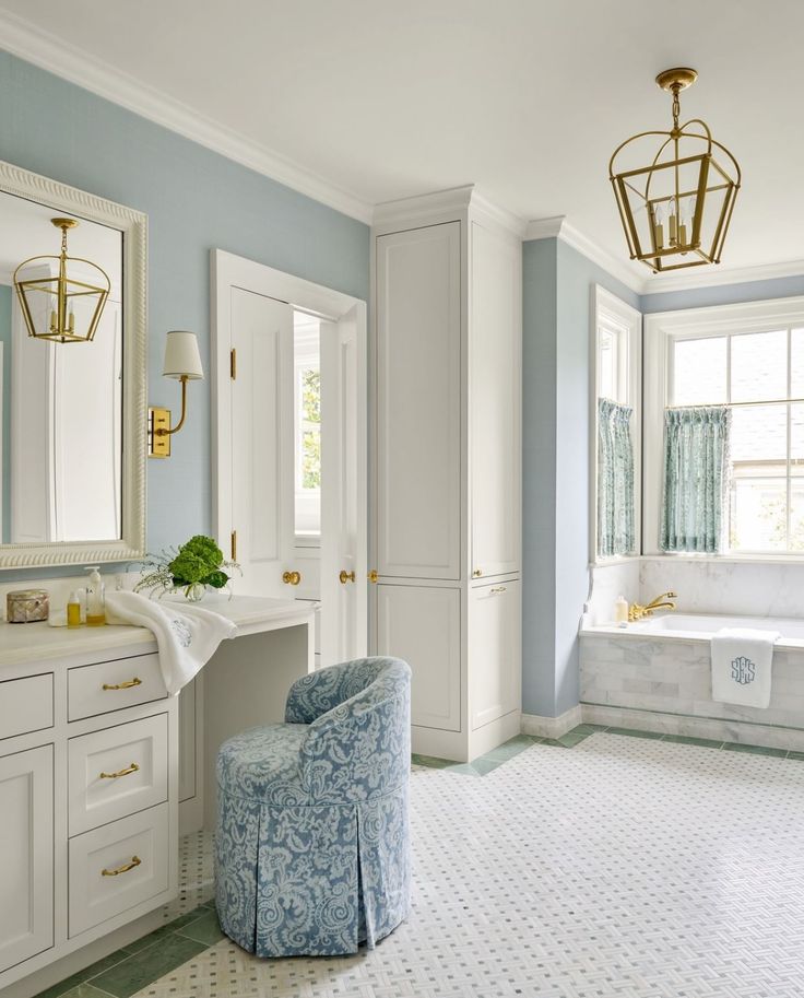
[[[470,466],[472,571],[520,567],[521,284],[512,244],[472,225]]]

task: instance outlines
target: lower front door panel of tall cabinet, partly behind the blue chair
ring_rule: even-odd
[[[379,585],[377,610],[378,654],[403,658],[413,672],[413,724],[460,731],[460,589]]]

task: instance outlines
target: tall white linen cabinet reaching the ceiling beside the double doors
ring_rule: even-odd
[[[373,644],[413,670],[414,752],[521,713],[521,234],[472,188],[375,215]]]

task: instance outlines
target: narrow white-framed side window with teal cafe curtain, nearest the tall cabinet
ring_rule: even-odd
[[[590,562],[641,551],[642,316],[595,284],[591,302]]]

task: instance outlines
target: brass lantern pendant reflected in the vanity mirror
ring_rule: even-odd
[[[28,336],[57,343],[88,343],[95,336],[111,282],[97,263],[67,255],[67,234],[78,221],[50,221],[61,230],[61,254],[31,257],[14,271],[14,287]],[[56,274],[54,261],[58,261]]]

